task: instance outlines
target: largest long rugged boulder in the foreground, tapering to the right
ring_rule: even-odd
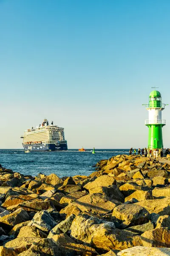
[[[123,250],[142,245],[140,236],[116,229],[113,222],[103,221],[86,213],[80,213],[71,225],[71,237],[100,250]]]

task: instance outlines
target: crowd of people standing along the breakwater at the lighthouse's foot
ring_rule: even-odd
[[[134,148],[134,149],[130,148],[129,155],[132,155],[132,154],[134,156],[136,155],[136,148]],[[142,150],[139,148],[137,154],[139,154],[139,155],[142,154],[145,157],[147,157],[147,154],[148,154],[147,148],[142,148]],[[163,156],[167,156],[167,154],[170,154],[170,149],[169,148],[161,149],[161,151],[160,151],[161,159],[162,159]],[[158,148],[154,148],[153,150],[152,149],[149,150],[149,156],[152,157],[152,155],[153,155],[153,158],[158,161],[158,156],[159,156]]]

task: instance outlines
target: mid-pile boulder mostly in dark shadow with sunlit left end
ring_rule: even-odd
[[[89,193],[90,194],[102,193],[108,196],[109,198],[112,198],[114,200],[124,203],[124,196],[122,195],[122,193],[120,192],[119,188],[116,185],[107,186],[107,187],[99,186],[93,189],[89,189]]]

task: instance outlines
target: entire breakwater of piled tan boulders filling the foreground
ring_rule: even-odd
[[[170,255],[170,165],[101,160],[89,176],[0,166],[0,256]]]

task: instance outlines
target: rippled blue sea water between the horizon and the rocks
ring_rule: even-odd
[[[127,149],[96,149],[92,154],[89,149],[79,152],[78,149],[68,151],[31,151],[23,149],[0,149],[0,164],[6,169],[20,172],[23,175],[36,176],[38,173],[49,175],[55,173],[59,177],[74,175],[90,175],[99,160],[108,159],[118,154],[128,154]]]

